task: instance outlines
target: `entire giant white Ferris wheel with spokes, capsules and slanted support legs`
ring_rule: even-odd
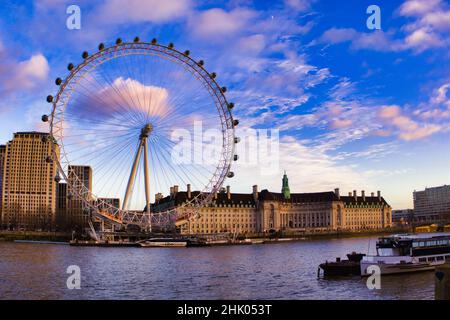
[[[156,39],[117,39],[82,58],[56,79],[58,92],[47,97],[51,114],[42,117],[57,146],[55,179],[64,180],[90,214],[120,224],[176,220],[175,208],[150,205],[175,185],[200,191],[185,205],[207,205],[233,177],[239,142],[234,104],[216,74],[189,51]],[[92,169],[92,187],[76,166]],[[196,214],[188,212],[184,219]]]

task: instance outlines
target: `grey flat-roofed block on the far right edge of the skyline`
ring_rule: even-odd
[[[414,191],[414,220],[435,222],[450,217],[450,186]]]

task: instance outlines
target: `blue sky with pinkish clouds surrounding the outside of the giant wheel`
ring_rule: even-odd
[[[66,8],[81,8],[81,29]],[[366,8],[381,9],[368,30]],[[236,164],[234,191],[381,190],[394,208],[448,184],[450,5],[404,1],[35,0],[0,5],[0,143],[40,129],[68,62],[100,42],[174,42],[229,90],[242,127],[280,130],[276,173]]]

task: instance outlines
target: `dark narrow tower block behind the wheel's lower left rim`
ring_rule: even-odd
[[[67,226],[69,228],[87,227],[89,214],[83,210],[83,202],[76,194],[80,194],[86,189],[89,194],[92,192],[92,168],[90,166],[69,166],[67,179],[68,185],[75,189],[67,189]],[[92,201],[89,195],[86,196],[86,200]]]

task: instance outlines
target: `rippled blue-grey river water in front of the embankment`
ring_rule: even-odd
[[[0,299],[433,299],[434,273],[318,279],[317,267],[373,252],[375,237],[199,248],[0,243]],[[67,267],[81,270],[69,290]]]

